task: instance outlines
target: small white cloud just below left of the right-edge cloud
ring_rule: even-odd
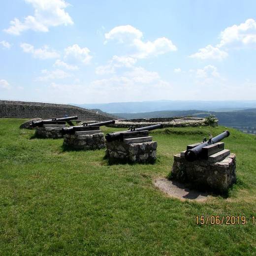
[[[209,44],[205,48],[199,49],[197,53],[192,54],[190,57],[201,60],[214,59],[221,61],[227,56],[228,54],[225,51],[222,51],[218,47],[213,47]]]

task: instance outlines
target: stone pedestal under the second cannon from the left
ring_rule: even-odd
[[[101,130],[75,131],[65,134],[63,145],[76,150],[95,150],[105,147]]]

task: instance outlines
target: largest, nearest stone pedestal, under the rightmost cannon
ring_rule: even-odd
[[[174,156],[170,179],[199,190],[225,193],[236,182],[235,157],[229,150],[223,150],[208,160],[189,162],[182,152]]]

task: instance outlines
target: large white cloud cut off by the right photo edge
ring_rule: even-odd
[[[248,19],[245,23],[228,27],[221,32],[220,38],[221,42],[218,47],[231,43],[256,44],[256,21]]]

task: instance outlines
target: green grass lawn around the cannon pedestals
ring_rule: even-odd
[[[113,164],[104,150],[64,151],[24,120],[0,120],[0,255],[256,254],[256,136],[229,129],[237,184],[227,199],[180,201],[153,186],[173,155],[225,128],[152,131],[155,164]],[[118,130],[102,128],[104,132]],[[196,225],[196,215],[246,216],[245,225]]]

